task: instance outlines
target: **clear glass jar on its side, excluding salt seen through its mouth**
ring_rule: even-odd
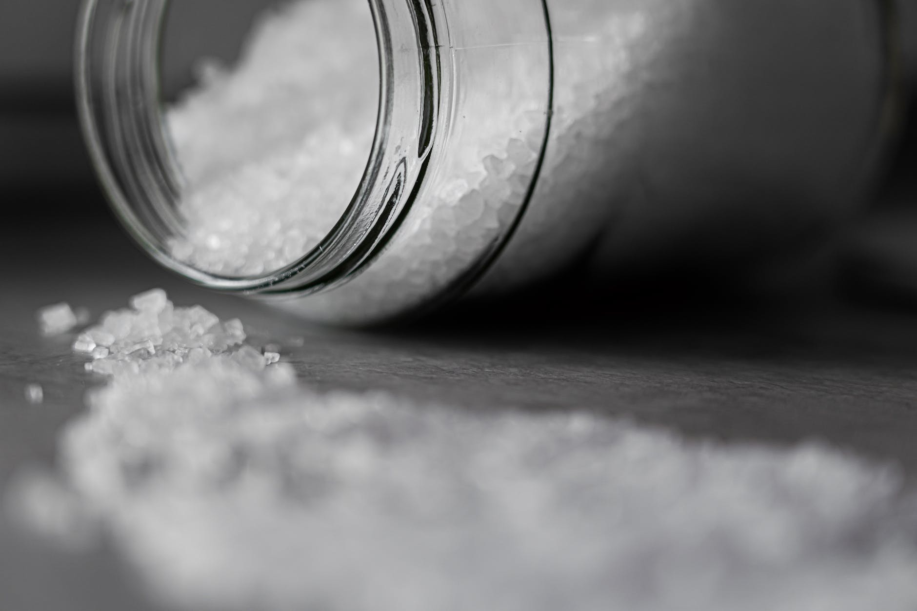
[[[342,324],[571,265],[766,268],[851,217],[900,94],[881,0],[369,0],[378,117],[349,206],[276,269],[220,273],[171,247],[170,5],[83,5],[81,118],[117,216],[195,283]]]

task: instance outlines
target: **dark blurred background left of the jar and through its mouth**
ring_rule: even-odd
[[[194,60],[233,61],[272,0],[193,0],[170,11],[163,86],[193,82]],[[73,104],[74,0],[0,2],[0,209],[5,223],[105,217]],[[51,195],[61,194],[60,198]],[[27,206],[24,202],[41,202]]]

